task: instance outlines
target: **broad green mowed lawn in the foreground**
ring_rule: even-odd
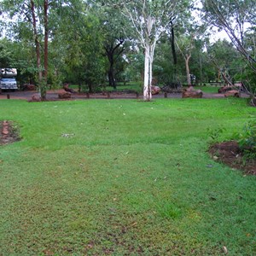
[[[214,162],[241,99],[0,101],[1,255],[254,255],[255,177]]]

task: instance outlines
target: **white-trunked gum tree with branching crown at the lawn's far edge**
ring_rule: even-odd
[[[186,2],[186,1],[185,1]],[[177,0],[119,0],[112,4],[124,15],[135,32],[137,41],[144,52],[143,100],[152,98],[151,84],[153,78],[154,49],[161,35],[166,32],[172,17],[178,12]]]

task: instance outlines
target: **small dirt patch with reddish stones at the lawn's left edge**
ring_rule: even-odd
[[[15,143],[20,141],[17,126],[11,121],[0,122],[0,145]]]

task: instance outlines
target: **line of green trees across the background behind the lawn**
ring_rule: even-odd
[[[197,83],[224,74],[254,90],[255,0],[198,2],[3,0],[0,67],[18,68],[20,84],[43,95],[49,84],[94,91],[144,80],[150,99],[153,78],[190,84],[190,73]],[[212,27],[229,41],[212,43]]]

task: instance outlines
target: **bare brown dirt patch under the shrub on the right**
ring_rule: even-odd
[[[256,160],[245,160],[241,149],[236,141],[216,143],[209,148],[212,159],[224,163],[231,168],[256,175]]]

